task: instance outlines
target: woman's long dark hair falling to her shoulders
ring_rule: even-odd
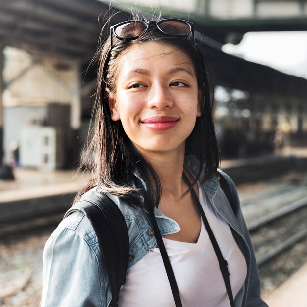
[[[129,204],[148,207],[158,206],[161,199],[160,180],[153,167],[135,148],[125,133],[121,121],[113,121],[105,88],[116,92],[119,62],[125,52],[134,45],[156,41],[174,46],[190,58],[197,77],[198,89],[202,92],[201,116],[186,140],[185,154],[194,155],[199,161],[195,181],[210,179],[219,166],[220,158],[215,136],[212,106],[212,80],[205,56],[190,38],[166,36],[153,28],[132,41],[107,38],[98,48],[98,78],[95,105],[92,113],[92,133],[84,152],[81,166],[85,166],[92,178],[77,197],[97,186],[98,190],[110,192],[125,199]],[[200,178],[204,171],[204,176]]]

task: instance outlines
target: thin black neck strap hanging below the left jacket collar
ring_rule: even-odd
[[[175,305],[176,305],[176,307],[182,307],[182,303],[181,303],[180,294],[179,294],[177,282],[176,282],[176,279],[175,279],[174,271],[172,269],[170,259],[167,256],[167,252],[166,252],[166,248],[165,248],[162,236],[161,236],[161,232],[159,230],[159,226],[158,226],[157,221],[156,221],[155,216],[154,216],[154,207],[150,208],[149,216],[150,216],[150,219],[151,219],[151,222],[152,222],[155,238],[156,238],[158,245],[159,245],[159,249],[160,249],[160,252],[161,252],[162,259],[163,259],[166,274],[167,274],[167,277],[168,277],[168,280],[169,280],[169,283],[170,283],[170,286],[171,286]]]

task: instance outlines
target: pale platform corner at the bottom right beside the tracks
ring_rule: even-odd
[[[263,300],[269,307],[307,307],[307,263]]]

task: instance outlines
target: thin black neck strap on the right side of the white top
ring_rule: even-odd
[[[187,178],[187,176],[183,173],[183,176],[182,176],[183,180],[186,182],[186,184],[188,185],[188,187],[190,188],[191,187],[191,183],[189,181],[189,179]],[[215,251],[215,254],[218,258],[218,261],[219,261],[219,265],[220,265],[220,270],[222,272],[222,276],[223,276],[223,279],[224,279],[224,283],[225,283],[225,286],[226,286],[226,290],[227,290],[227,294],[228,294],[228,297],[229,297],[229,301],[230,301],[230,306],[231,307],[235,307],[234,305],[234,300],[233,300],[233,295],[232,295],[232,290],[231,290],[231,285],[230,285],[230,280],[229,280],[229,271],[228,271],[228,263],[227,261],[224,259],[223,255],[222,255],[222,252],[220,250],[220,247],[215,239],[215,236],[213,234],[213,231],[209,225],[209,222],[205,216],[205,212],[203,210],[203,207],[201,205],[201,203],[199,202],[199,199],[194,191],[194,188],[191,189],[191,193],[192,193],[192,197],[193,197],[193,200],[194,200],[194,203],[197,205],[197,208],[201,214],[201,217],[204,221],[204,224],[205,224],[205,228],[208,232],[208,235],[209,235],[209,238],[210,238],[210,241],[212,243],[212,246],[213,246],[213,249]]]

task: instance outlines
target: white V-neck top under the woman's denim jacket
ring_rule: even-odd
[[[230,227],[208,205],[199,188],[199,200],[224,258],[228,262],[233,297],[239,292],[247,274],[244,256]],[[218,259],[202,222],[197,243],[163,238],[178,284],[183,307],[229,307],[225,283]],[[153,248],[127,271],[126,284],[120,291],[119,307],[175,307],[163,260]]]

